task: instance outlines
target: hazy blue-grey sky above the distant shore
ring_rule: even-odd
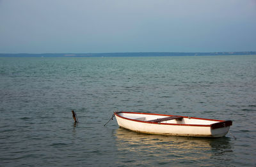
[[[0,0],[0,53],[256,51],[256,0]]]

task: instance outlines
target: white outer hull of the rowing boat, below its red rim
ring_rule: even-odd
[[[122,112],[119,112],[122,113]],[[126,112],[128,113],[128,112]],[[136,113],[137,115],[140,113]],[[141,113],[145,114],[145,113]],[[152,114],[150,114],[152,115]],[[164,115],[166,116],[166,115]],[[169,116],[169,115],[168,115]],[[148,134],[164,134],[172,136],[195,136],[206,138],[220,138],[228,133],[230,126],[212,128],[211,124],[169,124],[164,122],[147,122],[122,117],[115,113],[118,126],[131,131]],[[185,117],[184,117],[185,119]],[[217,121],[214,123],[216,124]]]

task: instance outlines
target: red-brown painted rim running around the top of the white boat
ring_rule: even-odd
[[[172,116],[178,116],[178,117],[183,117],[183,118],[187,118],[187,119],[200,119],[200,120],[212,120],[212,121],[218,121],[219,122],[225,122],[225,120],[216,120],[216,119],[202,119],[202,118],[196,118],[196,117],[186,117],[186,116],[179,116],[179,115],[166,115],[166,114],[159,114],[159,113],[138,113],[138,112],[114,112],[114,114],[117,117],[120,117],[122,119],[127,119],[127,120],[132,120],[135,122],[141,122],[141,123],[147,123],[147,124],[162,124],[162,125],[172,125],[172,126],[200,126],[200,127],[211,127],[213,124],[216,123],[212,123],[209,125],[205,125],[205,124],[170,124],[170,123],[162,123],[162,122],[147,122],[147,121],[143,121],[143,120],[135,120],[135,119],[129,119],[126,117],[122,117],[121,115],[118,115],[118,113],[134,113],[134,114],[144,114],[144,115],[160,115],[160,116],[168,116],[168,117],[172,117]]]

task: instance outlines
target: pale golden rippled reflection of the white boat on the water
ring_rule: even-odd
[[[118,150],[118,164],[129,165],[168,164],[205,161],[211,165],[212,159],[230,159],[223,156],[229,150],[232,152],[229,138],[193,138],[180,136],[164,136],[143,134],[118,128],[115,131],[116,147]],[[125,158],[124,158],[125,155]],[[128,158],[127,158],[128,157]],[[141,161],[143,159],[143,161]],[[226,162],[227,163],[227,162]],[[128,165],[128,166],[129,166]]]

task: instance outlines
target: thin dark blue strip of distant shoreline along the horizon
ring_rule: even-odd
[[[205,56],[205,55],[256,55],[256,52],[124,52],[96,54],[0,54],[0,57],[157,57],[157,56]]]

